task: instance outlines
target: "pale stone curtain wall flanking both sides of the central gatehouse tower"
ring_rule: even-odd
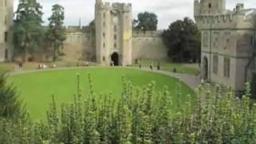
[[[92,45],[90,30],[79,29],[78,26],[66,29],[66,41],[64,42],[64,60],[88,60],[94,61],[96,57],[95,46]],[[146,31],[133,33],[132,37],[132,60],[166,59],[167,49],[161,38],[161,31]]]

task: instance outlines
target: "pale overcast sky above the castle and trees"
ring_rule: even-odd
[[[171,22],[184,17],[193,18],[194,0],[106,0],[107,2],[130,2],[133,4],[133,15],[142,11],[154,12],[158,15],[158,29],[166,29]],[[51,6],[58,3],[65,8],[65,25],[78,26],[79,18],[82,25],[86,26],[94,19],[95,0],[38,0],[43,6],[43,20],[51,14]],[[226,7],[233,9],[237,2],[244,2],[246,8],[256,8],[256,0],[226,0]],[[14,11],[17,9],[18,0],[14,0]]]

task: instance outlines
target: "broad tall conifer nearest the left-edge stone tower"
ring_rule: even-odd
[[[42,46],[42,6],[36,0],[20,0],[14,19],[15,54],[34,54]]]

